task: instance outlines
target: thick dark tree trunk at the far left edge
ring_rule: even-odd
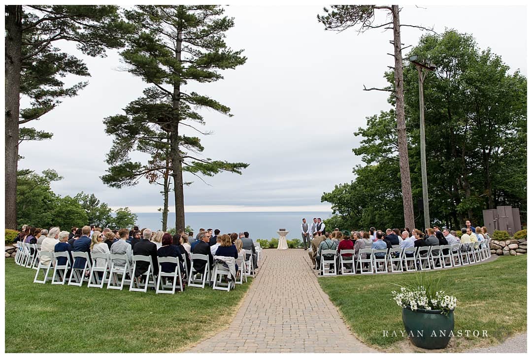
[[[22,6],[6,5],[5,12],[5,228],[16,229]]]

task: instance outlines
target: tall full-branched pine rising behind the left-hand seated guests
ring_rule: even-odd
[[[188,91],[189,82],[222,79],[220,70],[244,64],[242,50],[233,51],[225,43],[225,32],[234,26],[216,5],[139,5],[126,11],[137,27],[121,53],[129,72],[152,85],[144,96],[130,103],[126,115],[107,119],[107,128],[121,128],[128,140],[161,144],[163,131],[170,138],[170,169],[176,205],[176,230],[185,228],[183,171],[212,176],[221,171],[240,173],[246,163],[229,163],[198,157],[203,151],[200,139],[183,135],[182,126],[204,124],[195,109],[212,109],[231,115],[229,107],[208,96]],[[155,134],[155,135],[154,135]],[[125,159],[125,157],[124,157]],[[140,163],[124,160],[122,165],[140,168]],[[112,168],[110,169],[112,173]]]

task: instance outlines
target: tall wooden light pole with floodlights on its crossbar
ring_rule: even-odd
[[[419,78],[419,136],[421,148],[421,184],[423,186],[423,217],[425,228],[430,228],[429,193],[427,189],[427,157],[425,154],[425,99],[423,98],[423,80],[428,71],[434,71],[436,66],[428,59],[410,56],[409,61],[418,69]]]

